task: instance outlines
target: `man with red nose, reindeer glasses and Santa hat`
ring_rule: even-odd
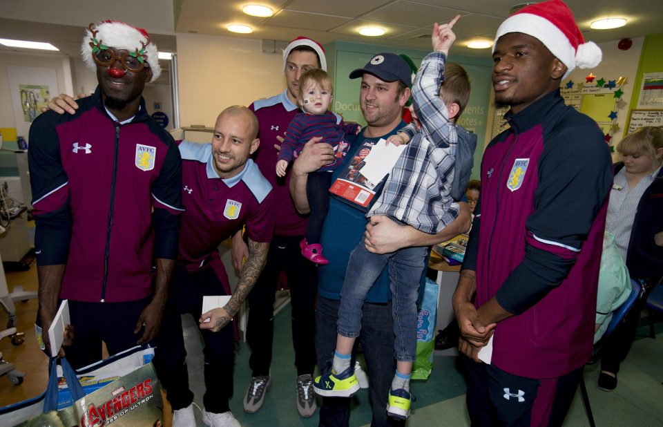
[[[115,354],[160,328],[183,207],[180,152],[141,97],[157,55],[141,28],[90,24],[81,56],[97,90],[74,115],[48,111],[30,127],[38,316],[48,330],[69,300],[74,336],[59,354],[75,368],[101,359],[102,341]]]

